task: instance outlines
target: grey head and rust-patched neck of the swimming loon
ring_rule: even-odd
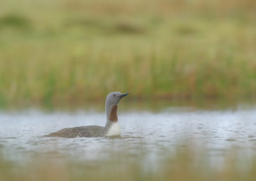
[[[124,98],[124,96],[127,96],[129,92],[122,94],[121,92],[111,92],[108,94],[106,99],[106,114],[107,119],[111,120],[113,122],[116,122],[118,120],[117,118],[117,105],[119,101]]]

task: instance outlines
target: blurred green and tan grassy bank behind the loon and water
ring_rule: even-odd
[[[1,1],[0,105],[255,98],[256,1]]]

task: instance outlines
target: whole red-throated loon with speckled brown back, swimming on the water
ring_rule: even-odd
[[[51,134],[47,137],[102,137],[102,136],[116,136],[120,134],[120,127],[118,125],[117,108],[119,101],[127,96],[129,93],[122,94],[121,92],[111,92],[106,98],[106,126],[79,126],[64,128]]]

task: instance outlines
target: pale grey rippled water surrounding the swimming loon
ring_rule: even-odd
[[[118,113],[121,136],[115,138],[44,138],[64,127],[104,126],[99,112],[0,113],[0,152],[4,159],[22,165],[31,157],[69,159],[77,162],[122,157],[140,158],[144,166],[154,165],[182,147],[204,148],[212,166],[236,147],[237,159],[250,160],[256,148],[256,107],[232,110],[165,108],[159,112]],[[148,164],[155,163],[155,164]]]

